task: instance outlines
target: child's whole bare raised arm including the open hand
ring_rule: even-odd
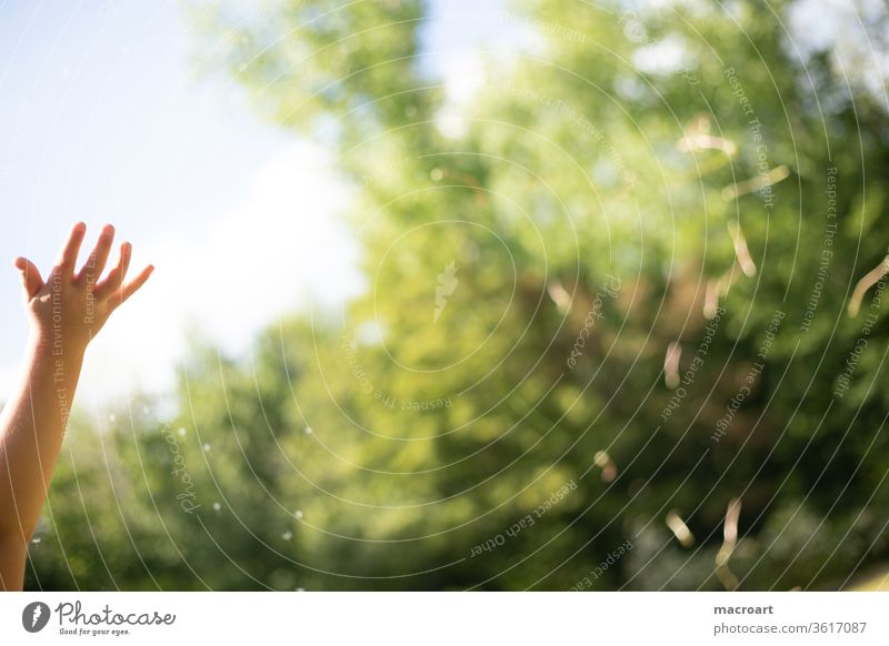
[[[74,225],[46,281],[16,259],[30,322],[24,374],[0,412],[0,591],[20,591],[28,543],[37,526],[62,444],[87,346],[111,313],[141,287],[154,268],[124,282],[132,246],[102,279],[114,241],[106,225],[77,271],[87,226]]]

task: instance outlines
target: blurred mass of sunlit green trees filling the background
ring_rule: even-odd
[[[887,558],[882,282],[853,294],[887,254],[886,114],[795,50],[790,6],[526,2],[542,44],[489,57],[470,107],[423,71],[420,2],[200,11],[258,109],[336,147],[370,286],[247,357],[193,353],[169,425],[193,513],[157,424],[93,436],[121,465],[81,505],[108,572],[42,548],[36,572],[785,589]],[[60,544],[97,563],[70,513]]]

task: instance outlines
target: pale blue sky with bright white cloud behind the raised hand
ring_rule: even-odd
[[[430,73],[509,44],[502,24],[492,39],[485,17],[455,19],[476,8],[433,2]],[[233,81],[198,75],[193,41],[176,1],[0,0],[0,401],[27,339],[11,261],[50,266],[77,220],[113,222],[133,264],[158,268],[90,350],[91,402],[170,385],[189,329],[239,351],[279,314],[362,289],[327,151],[262,122]],[[284,290],[251,291],[267,272]]]

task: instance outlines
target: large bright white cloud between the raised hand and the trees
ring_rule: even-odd
[[[171,386],[188,330],[239,352],[281,314],[359,293],[356,243],[339,219],[349,200],[330,154],[300,143],[259,168],[227,212],[192,219],[211,223],[202,234],[137,241],[134,263],[152,262],[154,275],[93,342],[79,398]]]

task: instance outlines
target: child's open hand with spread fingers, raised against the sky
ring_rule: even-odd
[[[114,228],[107,224],[89,260],[80,272],[74,273],[86,232],[87,225],[82,222],[74,225],[46,282],[31,261],[16,259],[36,341],[49,344],[53,351],[58,349],[59,353],[86,351],[111,312],[133,295],[154,270],[149,265],[123,284],[132,255],[132,246],[124,242],[120,245],[117,266],[100,281],[114,240]]]

